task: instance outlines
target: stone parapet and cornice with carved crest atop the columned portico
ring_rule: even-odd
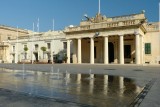
[[[118,17],[106,17],[101,14],[97,14],[94,18],[86,16],[87,20],[80,22],[79,26],[67,27],[64,32],[66,34],[80,33],[80,32],[94,32],[106,29],[119,29],[136,27],[141,28],[143,32],[146,32],[146,17],[144,12],[139,14],[131,14]]]

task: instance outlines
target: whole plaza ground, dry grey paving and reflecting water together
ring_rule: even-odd
[[[134,103],[137,96],[139,106],[160,105],[157,100],[160,97],[159,66],[0,64],[0,67],[3,67],[0,69],[0,102],[3,102],[0,107],[17,107],[16,104],[125,107]],[[147,88],[152,80],[155,82]],[[12,98],[14,100],[10,100]]]

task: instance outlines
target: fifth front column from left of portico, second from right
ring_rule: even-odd
[[[124,64],[124,39],[123,35],[120,35],[120,64]]]

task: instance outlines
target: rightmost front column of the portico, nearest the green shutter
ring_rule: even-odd
[[[138,33],[136,33],[135,34],[135,36],[136,36],[136,40],[135,40],[135,45],[136,45],[136,52],[135,52],[135,58],[136,58],[136,64],[140,64],[140,43],[139,43],[139,34]]]

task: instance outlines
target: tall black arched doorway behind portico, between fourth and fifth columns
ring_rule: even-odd
[[[112,62],[114,62],[114,45],[113,45],[113,43],[109,42],[108,47],[109,47],[109,51],[108,51],[109,63],[112,63]]]

